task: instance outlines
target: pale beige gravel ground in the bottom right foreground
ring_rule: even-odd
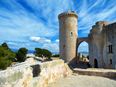
[[[72,75],[49,84],[48,87],[116,87],[116,80],[97,76]]]

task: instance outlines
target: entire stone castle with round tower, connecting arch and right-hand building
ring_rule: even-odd
[[[67,63],[74,61],[79,44],[86,41],[92,67],[116,68],[116,23],[98,21],[92,26],[88,37],[78,38],[78,16],[75,12],[61,13],[58,19],[60,58]]]

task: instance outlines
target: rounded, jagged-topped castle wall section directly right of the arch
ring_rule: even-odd
[[[97,22],[90,32],[89,38],[89,56],[90,64],[94,66],[94,60],[98,62],[98,67],[104,67],[103,61],[103,47],[104,47],[104,37],[103,37],[103,27],[105,26],[104,21]]]

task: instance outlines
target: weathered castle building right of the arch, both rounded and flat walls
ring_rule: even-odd
[[[89,60],[94,67],[94,60],[97,59],[100,68],[116,68],[116,23],[97,22],[89,34]],[[112,45],[112,53],[109,52],[109,45]],[[112,62],[111,62],[112,61]]]

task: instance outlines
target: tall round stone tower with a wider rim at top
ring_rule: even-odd
[[[70,63],[76,57],[77,14],[68,11],[59,14],[60,58]]]

